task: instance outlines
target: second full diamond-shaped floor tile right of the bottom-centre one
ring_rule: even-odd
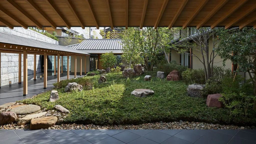
[[[181,132],[177,133],[176,135],[174,135],[174,137],[194,143],[201,136],[197,135],[196,133],[192,133],[192,132],[188,132],[188,131],[181,131]]]

